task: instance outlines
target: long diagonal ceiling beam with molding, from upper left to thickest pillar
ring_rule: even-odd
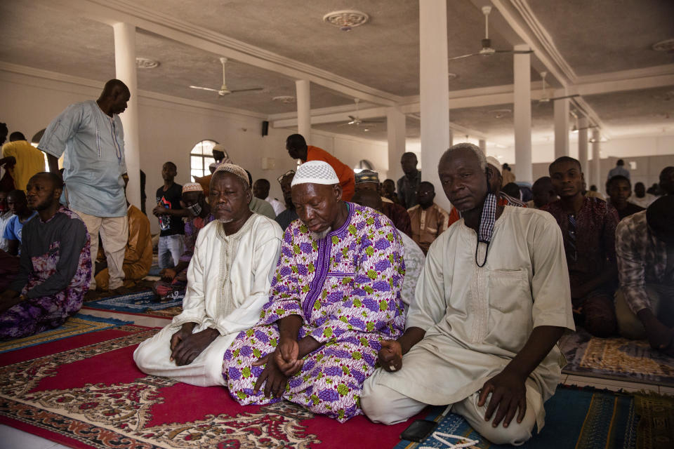
[[[232,39],[223,34],[204,29],[198,25],[172,18],[156,9],[145,9],[126,0],[54,0],[70,8],[74,13],[86,15],[93,20],[112,25],[115,22],[130,23],[141,29],[159,34],[195,48],[232,58],[260,69],[277,72],[290,79],[308,79],[319,86],[337,91],[350,98],[392,106],[400,97],[371,88],[362,83],[338,76],[312,65],[277,55],[263,48]]]

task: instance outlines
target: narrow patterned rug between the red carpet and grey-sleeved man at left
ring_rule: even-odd
[[[71,316],[61,326],[51,330],[31,335],[29,337],[17,338],[15,340],[0,341],[0,354],[6,351],[15,351],[36,344],[53,342],[73,335],[81,335],[95,330],[114,328],[132,323],[132,321],[122,321],[113,318],[102,318],[100,316],[91,316],[86,314],[76,314]]]

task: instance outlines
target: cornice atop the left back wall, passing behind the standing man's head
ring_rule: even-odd
[[[78,86],[79,88],[74,88],[70,90],[72,93],[82,93],[81,86],[86,88],[95,89],[95,95],[98,95],[103,89],[103,84],[105,81],[96,81],[93,79],[81,78],[79,76],[71,76],[66,74],[61,74],[58,72],[50,72],[48,70],[36,69],[34,67],[27,67],[23,65],[11,64],[10,62],[0,61],[0,72],[7,72],[12,74],[19,74],[23,76],[29,76],[34,79],[47,79],[49,81],[58,81],[60,83],[67,83],[72,86]],[[23,79],[22,81],[28,81]],[[31,83],[32,86],[42,87],[41,83],[34,82]],[[200,102],[195,100],[188,100],[187,98],[173,97],[171,95],[165,95],[163,93],[156,93],[150,91],[138,91],[138,97],[147,100],[157,100],[160,102],[169,102],[174,105],[195,107],[198,109],[209,109],[210,111],[220,112],[225,114],[232,114],[234,116],[244,116],[254,119],[265,120],[267,118],[266,114],[260,114],[258,112],[247,111],[246,109],[237,109],[234,107],[218,106],[213,103]],[[143,103],[141,103],[143,104]]]

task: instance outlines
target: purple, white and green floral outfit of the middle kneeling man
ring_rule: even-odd
[[[239,333],[225,352],[223,376],[242,405],[281,400],[265,398],[262,390],[253,394],[263,367],[252,363],[275,351],[276,321],[298,315],[304,321],[299,339],[310,335],[323,345],[305,356],[283,398],[340,422],[362,413],[360,391],[374,371],[381,340],[394,340],[404,330],[405,267],[391,222],[375,210],[348,206],[343,227],[322,240],[313,239],[300,220],[286,229],[260,323]]]

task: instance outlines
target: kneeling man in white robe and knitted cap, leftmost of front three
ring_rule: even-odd
[[[251,212],[252,196],[243,168],[218,166],[209,186],[215,220],[197,237],[183,313],[133,353],[143,373],[201,387],[225,384],[225,350],[258,321],[281,250],[281,228]]]

